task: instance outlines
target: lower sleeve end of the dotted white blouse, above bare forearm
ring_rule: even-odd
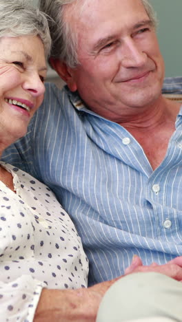
[[[1,322],[32,322],[44,283],[23,275],[10,283],[0,281]]]

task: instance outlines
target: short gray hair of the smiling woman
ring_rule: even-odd
[[[48,57],[51,47],[48,19],[30,3],[30,0],[0,0],[0,39],[3,36],[39,36]]]

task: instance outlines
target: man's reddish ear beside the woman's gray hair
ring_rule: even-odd
[[[50,65],[68,85],[71,92],[77,91],[77,83],[72,76],[72,69],[58,58],[50,58]]]

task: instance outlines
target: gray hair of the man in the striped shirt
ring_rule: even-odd
[[[65,11],[68,5],[78,3],[80,0],[39,0],[39,8],[48,14],[52,20],[49,21],[50,34],[52,37],[52,50],[50,56],[59,58],[68,66],[74,68],[79,64],[77,57],[77,34],[71,25],[65,21]],[[82,3],[88,0],[81,0]],[[111,0],[112,1],[112,0]],[[156,14],[149,0],[141,0],[148,17],[156,27]],[[77,7],[78,8],[78,7]],[[80,7],[81,10],[82,7]]]

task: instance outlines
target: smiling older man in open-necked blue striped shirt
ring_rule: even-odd
[[[56,193],[83,241],[90,286],[123,275],[134,255],[145,267],[137,257],[128,272],[181,280],[181,110],[161,94],[150,4],[42,0],[41,10],[55,20],[50,63],[68,86],[47,85],[5,160]]]

